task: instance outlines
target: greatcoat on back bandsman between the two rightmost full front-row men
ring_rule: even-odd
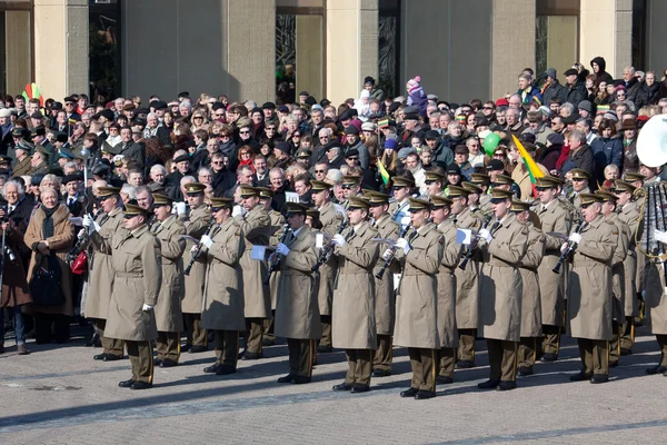
[[[560,268],[560,274],[554,274],[554,267],[560,259],[560,246],[565,239],[554,234],[567,238],[570,231],[569,212],[558,200],[552,200],[546,208],[539,204],[535,211],[545,237],[545,255],[537,267],[541,324],[565,326],[565,265]]]

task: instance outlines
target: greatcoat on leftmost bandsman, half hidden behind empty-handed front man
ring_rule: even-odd
[[[111,255],[100,250],[100,245],[111,243],[113,235],[122,229],[122,208],[117,207],[107,214],[100,214],[96,221],[100,230],[91,234],[88,258],[88,293],[86,298],[84,314],[87,318],[107,319],[109,301],[113,289],[113,263]]]

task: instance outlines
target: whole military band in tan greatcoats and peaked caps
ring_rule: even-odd
[[[79,234],[90,253],[84,313],[103,346],[94,359],[127,350],[132,374],[119,386],[143,389],[155,366],[208,350],[209,338],[216,360],[203,373],[223,376],[279,337],[289,369],[278,383],[310,383],[318,354],[340,348],[349,367],[334,390],[365,393],[406,347],[412,377],[400,396],[428,399],[477,365],[480,338],[490,369],[479,388],[516,388],[537,360],[558,360],[566,333],[581,358],[570,379],[605,383],[646,313],[661,350],[647,372],[667,376],[664,263],[635,238],[637,190],[658,180],[645,170],[654,176],[628,172],[591,194],[575,169],[569,197],[560,179],[537,178],[532,202],[516,200],[502,175],[445,188],[428,171],[424,196],[408,177],[391,178],[392,196],[346,177],[341,204],[312,180],[315,207],[287,202],[285,216],[262,187],[205,200],[205,185],[186,184],[186,212],[160,194],[122,207],[119,188],[99,187],[99,211]]]

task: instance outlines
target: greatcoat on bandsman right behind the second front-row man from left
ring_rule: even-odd
[[[271,316],[271,294],[265,285],[268,275],[267,261],[250,258],[252,246],[268,246],[271,237],[271,218],[261,205],[257,205],[245,216],[236,217],[246,238],[243,255],[239,261],[243,273],[243,298],[246,318],[267,318]]]

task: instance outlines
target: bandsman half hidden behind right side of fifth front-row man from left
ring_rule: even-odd
[[[440,338],[439,370],[436,382],[441,385],[454,383],[454,365],[458,348],[456,328],[456,277],[461,246],[456,243],[456,225],[451,217],[451,199],[431,197],[431,220],[442,234],[442,260],[438,270],[438,337]]]

